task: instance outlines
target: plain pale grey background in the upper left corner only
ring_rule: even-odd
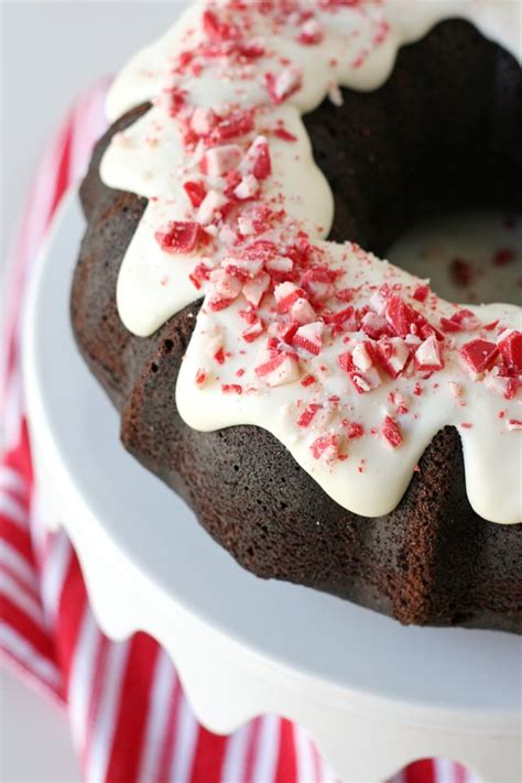
[[[0,0],[2,269],[32,171],[83,89],[115,73],[183,7],[168,2]]]

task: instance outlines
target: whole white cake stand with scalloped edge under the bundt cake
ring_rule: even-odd
[[[24,326],[32,435],[104,631],[152,634],[209,729],[261,713],[302,724],[336,773],[378,781],[424,757],[487,781],[521,776],[521,640],[402,628],[372,611],[242,570],[124,453],[118,415],[81,361],[68,296],[84,220],[64,204]]]

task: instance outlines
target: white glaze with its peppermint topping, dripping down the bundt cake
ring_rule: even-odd
[[[507,330],[520,309],[448,304],[325,241],[333,197],[301,119],[338,85],[378,87],[398,48],[446,18],[520,55],[516,14],[480,0],[204,2],[120,74],[110,118],[152,108],[101,166],[107,185],[149,198],[118,306],[145,336],[205,294],[176,389],[189,426],[263,426],[339,504],[373,516],[454,424],[477,513],[522,519],[522,337]]]

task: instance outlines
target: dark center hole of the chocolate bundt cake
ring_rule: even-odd
[[[522,72],[470,23],[404,46],[377,90],[304,118],[335,198],[330,238],[459,302],[522,298]]]

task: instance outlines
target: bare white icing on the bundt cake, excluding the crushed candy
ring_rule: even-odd
[[[241,66],[241,78],[230,63],[224,67],[222,58],[197,77],[188,75],[186,69],[182,75],[174,75],[174,57],[204,40],[202,12],[209,6],[204,2],[191,7],[166,35],[129,63],[109,95],[111,120],[143,101],[153,100],[153,107],[144,116],[113,138],[101,164],[101,177],[107,185],[150,199],[118,281],[118,307],[126,326],[140,336],[152,334],[173,314],[199,298],[200,293],[189,280],[196,265],[204,261],[217,267],[227,253],[227,239],[222,235],[210,248],[192,253],[165,252],[154,238],[159,227],[167,221],[197,219],[197,210],[195,213],[183,183],[202,180],[200,154],[197,146],[195,151],[187,150],[178,118],[170,116],[173,87],[183,87],[191,106],[213,107],[218,112],[230,105],[257,107],[258,133],[278,123],[291,132],[296,138],[292,143],[269,135],[272,175],[262,186],[263,203],[274,208],[275,205],[284,207],[289,220],[324,250],[328,265],[342,271],[336,285],[359,286],[351,305],[367,303],[372,293],[370,286],[383,283],[398,284],[401,295],[412,303],[417,279],[356,247],[324,241],[331,226],[333,197],[313,160],[301,115],[318,106],[333,85],[374,89],[388,78],[399,47],[422,37],[446,18],[470,20],[520,58],[519,3],[509,0],[389,0],[381,3],[372,0],[335,12],[318,10],[315,15],[324,37],[309,46],[296,42],[295,28],[273,29],[269,15],[253,14],[249,35],[263,42],[265,55]],[[211,4],[218,11],[225,6],[226,2]],[[268,97],[263,75],[275,70],[274,62],[279,63],[280,57],[302,70],[302,81],[300,89],[274,106]],[[253,135],[251,133],[249,139]],[[225,143],[235,142],[232,139]],[[207,188],[222,191],[221,177],[203,178]],[[270,237],[270,231],[263,235],[263,239]],[[281,242],[281,236],[274,235],[273,239]],[[374,516],[395,508],[427,444],[442,427],[454,424],[463,438],[467,491],[477,513],[494,522],[521,521],[520,432],[505,425],[508,421],[521,418],[520,399],[504,400],[485,383],[469,382],[457,359],[456,349],[471,338],[494,339],[487,333],[452,335],[455,341],[445,354],[445,368],[422,381],[421,395],[415,393],[418,377],[412,372],[384,380],[371,392],[358,394],[337,365],[337,357],[346,345],[338,336],[326,337],[320,356],[301,357],[306,366],[301,377],[313,372],[320,382],[319,394],[317,383],[303,387],[294,381],[267,387],[254,371],[260,363],[255,357],[263,341],[247,344],[241,338],[246,327],[239,315],[246,305],[242,296],[219,312],[213,312],[207,302],[197,317],[176,389],[180,413],[189,426],[205,431],[236,424],[262,426],[289,448],[338,503],[356,513]],[[434,297],[429,297],[424,304],[412,304],[431,318],[433,302]],[[273,298],[265,297],[262,307],[267,318],[270,318],[271,305]],[[483,324],[500,319],[504,326],[521,328],[519,308],[488,305],[471,309]],[[437,301],[437,318],[450,318],[455,312],[454,305]],[[350,338],[354,344],[365,335],[356,333]],[[227,359],[218,365],[213,356],[216,346],[221,345]],[[205,380],[196,384],[195,378],[202,371]],[[241,393],[224,393],[224,384],[235,383],[240,383]],[[407,413],[396,413],[398,405],[390,402],[390,392],[395,394],[395,400],[398,394],[402,395]],[[329,403],[331,395],[340,398],[340,402]],[[303,410],[318,400],[323,409],[311,426],[296,426]],[[381,426],[385,415],[399,416],[403,438],[400,448],[392,448],[383,441]],[[316,458],[311,448],[314,441],[320,435],[338,437],[344,432],[345,420],[363,423],[365,436],[345,442],[342,457],[347,458]]]

